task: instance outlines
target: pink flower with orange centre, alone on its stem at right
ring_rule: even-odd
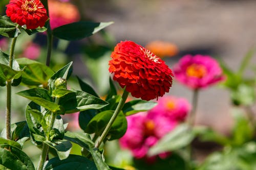
[[[210,56],[186,55],[174,66],[176,79],[182,84],[199,89],[224,80],[219,63]]]

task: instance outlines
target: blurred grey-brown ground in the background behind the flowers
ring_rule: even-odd
[[[132,40],[146,45],[161,40],[177,45],[179,52],[164,58],[172,68],[185,54],[210,55],[236,70],[256,45],[256,1],[239,0],[137,0],[73,1],[95,21],[114,21],[106,30],[116,42]],[[97,36],[97,35],[95,35]],[[252,59],[255,63],[255,59]],[[250,72],[247,73],[251,74]],[[170,94],[191,100],[191,91],[175,82]],[[232,124],[229,92],[221,87],[200,91],[197,124],[227,133]]]

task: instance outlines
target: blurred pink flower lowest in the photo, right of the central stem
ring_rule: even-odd
[[[159,114],[160,115],[160,114]],[[132,151],[135,158],[146,158],[154,161],[154,157],[147,157],[147,151],[157,143],[166,133],[173,130],[177,122],[170,121],[163,116],[148,117],[147,112],[127,116],[127,131],[120,139],[122,148]],[[168,154],[161,153],[164,158]]]

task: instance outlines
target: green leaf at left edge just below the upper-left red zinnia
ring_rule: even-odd
[[[14,38],[17,37],[20,33],[20,30],[16,28],[17,24],[13,23],[11,19],[8,16],[0,16],[0,34],[9,37]]]

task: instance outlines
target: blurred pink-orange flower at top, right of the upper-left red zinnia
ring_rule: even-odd
[[[76,6],[68,1],[48,0],[51,29],[80,20]]]

